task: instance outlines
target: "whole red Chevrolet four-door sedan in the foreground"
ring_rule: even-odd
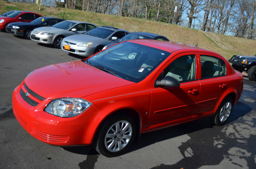
[[[114,157],[141,133],[204,117],[223,125],[242,90],[242,74],[215,52],[130,40],[84,60],[34,70],[14,89],[12,105],[37,139],[92,144]]]

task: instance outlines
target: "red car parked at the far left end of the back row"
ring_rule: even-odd
[[[8,16],[0,17],[0,30],[6,31],[6,26],[12,22],[31,22],[42,15],[29,11],[16,11]]]

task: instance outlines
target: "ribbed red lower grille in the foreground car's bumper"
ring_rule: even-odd
[[[44,139],[45,141],[54,141],[54,142],[65,143],[69,139],[69,136],[50,135],[50,134],[46,134],[41,131],[38,131],[34,128],[31,129],[31,134],[36,135],[37,137],[40,137],[41,139]]]

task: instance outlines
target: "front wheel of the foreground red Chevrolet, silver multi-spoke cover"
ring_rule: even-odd
[[[135,121],[130,115],[111,115],[97,131],[93,146],[106,157],[116,157],[131,146],[135,135]]]

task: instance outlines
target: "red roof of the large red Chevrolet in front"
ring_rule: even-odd
[[[212,52],[210,50],[206,50],[203,48],[199,48],[196,46],[191,46],[191,45],[187,45],[187,44],[181,44],[181,43],[176,43],[176,42],[169,42],[169,41],[160,41],[160,40],[128,40],[126,42],[133,42],[133,43],[137,43],[137,44],[141,44],[141,45],[145,45],[145,46],[150,46],[152,48],[157,48],[160,50],[164,50],[167,52],[174,52],[176,50],[186,50],[189,49],[190,52],[210,52],[210,53],[214,53],[217,54],[216,52]],[[123,42],[121,42],[123,43]],[[219,55],[219,54],[218,54]]]

